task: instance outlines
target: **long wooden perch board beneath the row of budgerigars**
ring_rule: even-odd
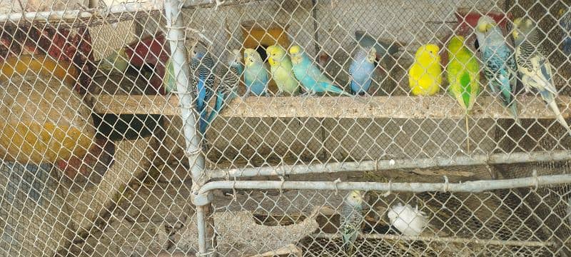
[[[96,96],[95,111],[112,114],[179,115],[176,96]],[[546,104],[535,96],[518,96],[517,109],[521,119],[555,119]],[[558,103],[570,103],[569,96],[559,96]],[[571,109],[560,104],[564,117]],[[235,99],[222,112],[225,117],[322,117],[322,118],[400,118],[400,119],[463,119],[464,112],[452,97],[445,95],[373,96],[353,99],[333,97],[248,97]],[[512,119],[499,101],[480,96],[471,117]]]

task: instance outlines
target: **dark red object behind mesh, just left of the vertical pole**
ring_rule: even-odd
[[[146,93],[165,95],[166,91],[163,87],[164,64],[168,61],[171,50],[170,46],[166,44],[166,37],[163,32],[159,31],[154,36],[148,35],[141,40],[128,44],[125,52],[131,59],[131,65],[141,67],[145,64],[151,64],[154,67],[155,72],[150,79],[153,89],[147,90]]]

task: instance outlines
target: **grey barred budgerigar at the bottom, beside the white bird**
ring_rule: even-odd
[[[340,215],[339,232],[343,239],[343,249],[348,255],[355,251],[355,241],[363,228],[363,196],[353,190],[345,197]]]

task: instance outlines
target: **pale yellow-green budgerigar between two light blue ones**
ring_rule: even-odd
[[[278,86],[278,95],[288,94],[295,96],[299,94],[299,82],[293,75],[293,64],[288,53],[285,52],[280,45],[268,46],[266,49],[268,54],[268,62],[270,63],[270,71],[272,73],[273,81],[276,81]]]

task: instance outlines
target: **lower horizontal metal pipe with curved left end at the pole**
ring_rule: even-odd
[[[211,181],[201,187],[198,193],[214,189],[295,189],[295,190],[364,190],[364,191],[407,191],[414,193],[471,192],[478,193],[495,189],[522,188],[571,183],[571,174],[532,176],[501,180],[468,181],[463,183],[377,183],[377,182],[325,182],[325,181]]]

